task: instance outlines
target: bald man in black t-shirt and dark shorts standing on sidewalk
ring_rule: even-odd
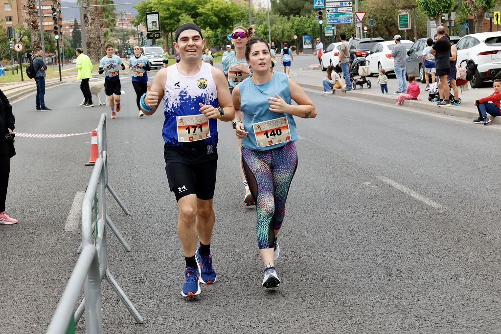
[[[447,76],[450,71],[450,41],[445,36],[445,28],[443,26],[437,27],[437,38],[438,40],[430,50],[430,54],[435,56],[435,71],[438,76],[438,95],[440,96],[440,101],[437,105],[451,106],[449,101],[449,83],[447,82]]]

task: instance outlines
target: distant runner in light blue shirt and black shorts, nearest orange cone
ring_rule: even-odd
[[[109,96],[109,104],[111,108],[111,118],[116,117],[115,104],[117,106],[117,113],[120,111],[120,95],[121,85],[120,76],[118,74],[119,68],[125,70],[125,65],[122,59],[114,55],[115,47],[111,44],[106,46],[106,56],[101,58],[99,62],[99,74],[105,75],[104,77],[104,90],[106,95]]]

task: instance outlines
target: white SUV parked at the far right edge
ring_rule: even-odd
[[[471,87],[479,88],[484,81],[501,78],[501,32],[466,35],[457,42],[456,48],[457,65],[465,59],[478,65]]]

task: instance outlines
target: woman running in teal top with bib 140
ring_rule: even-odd
[[[317,110],[305,92],[287,74],[270,72],[270,49],[260,37],[250,38],[245,58],[253,76],[235,87],[233,125],[242,141],[242,166],[256,201],[258,245],[265,265],[264,287],[280,284],[275,263],[289,187],[298,165],[298,140],[293,116],[314,118]],[[292,105],[291,99],[298,105]],[[236,113],[235,113],[236,114]],[[236,114],[237,115],[237,114]]]

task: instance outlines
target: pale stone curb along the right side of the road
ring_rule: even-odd
[[[306,83],[301,83],[301,82],[296,82],[296,83],[300,87],[303,87],[303,88],[308,88],[308,89],[319,91],[319,92],[324,91],[323,87],[319,86],[319,85],[312,85],[312,84],[306,84]],[[325,96],[328,97],[331,95],[325,95]],[[359,92],[359,90],[351,90],[349,92],[341,92],[339,90],[336,90],[336,91],[334,91],[334,94],[332,96],[350,97],[350,98],[355,98],[355,99],[363,99],[363,100],[367,100],[367,101],[377,101],[377,102],[383,102],[383,103],[387,103],[387,104],[391,104],[391,105],[394,105],[396,102],[395,95],[389,96],[389,95],[382,95],[382,94],[372,94],[372,93]],[[472,110],[472,109],[464,108],[464,107],[455,107],[455,106],[441,107],[441,106],[437,106],[434,103],[431,103],[428,101],[422,101],[422,100],[418,100],[418,101],[406,100],[406,101],[402,102],[402,106],[418,109],[421,111],[431,112],[431,113],[466,118],[469,120],[473,120],[473,119],[478,118],[478,112],[476,110]],[[405,110],[405,109],[402,109],[402,110]],[[492,117],[490,120],[491,120],[491,124],[501,125],[501,117]]]

